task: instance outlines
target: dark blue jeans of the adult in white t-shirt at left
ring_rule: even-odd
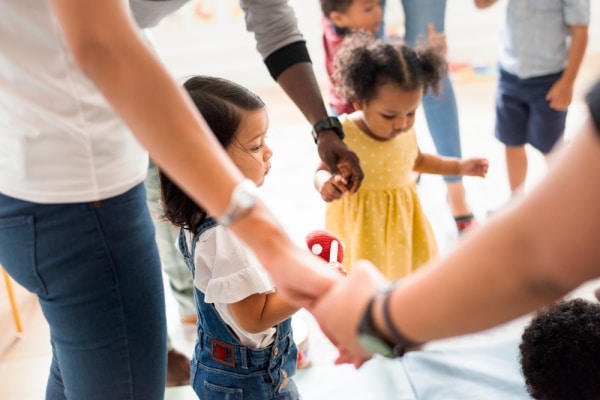
[[[163,399],[164,291],[143,184],[92,203],[0,194],[0,264],[50,325],[46,399]]]

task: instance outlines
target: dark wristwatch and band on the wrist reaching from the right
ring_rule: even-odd
[[[389,358],[402,357],[410,347],[420,345],[419,343],[414,343],[406,339],[392,324],[390,315],[390,295],[393,288],[394,286],[390,286],[389,288],[375,293],[373,297],[371,297],[360,320],[360,324],[358,325],[358,341],[365,350],[371,354],[381,354],[382,356]],[[388,341],[381,332],[377,330],[373,323],[373,303],[378,297],[383,297],[383,317],[387,329],[394,337],[394,343]]]

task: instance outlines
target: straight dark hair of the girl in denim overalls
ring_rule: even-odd
[[[265,107],[256,94],[227,79],[194,76],[183,87],[224,148],[235,139],[244,112]],[[163,217],[176,226],[194,231],[205,219],[206,211],[160,170],[159,180]]]

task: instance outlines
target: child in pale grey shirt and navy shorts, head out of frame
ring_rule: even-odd
[[[475,0],[486,8],[496,0]],[[546,161],[563,137],[588,40],[589,0],[509,0],[500,35],[496,138],[511,194],[527,177],[525,145]]]

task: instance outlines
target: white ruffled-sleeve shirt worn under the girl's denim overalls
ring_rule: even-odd
[[[186,232],[188,248],[191,234]],[[194,286],[204,293],[206,303],[214,303],[223,321],[244,346],[261,349],[275,338],[271,327],[260,333],[249,333],[236,322],[229,304],[237,303],[255,293],[272,293],[275,287],[269,274],[248,246],[221,225],[204,232],[194,253]]]

